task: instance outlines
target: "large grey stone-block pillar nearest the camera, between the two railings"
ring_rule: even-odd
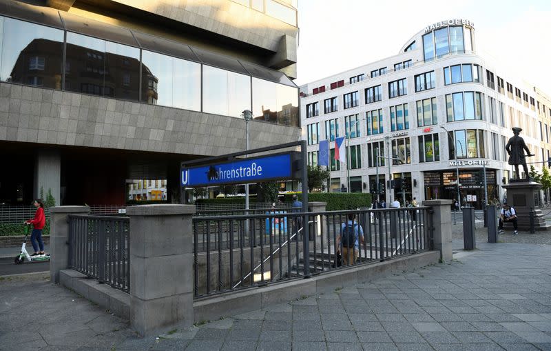
[[[130,217],[130,324],[142,335],[194,321],[194,205],[141,205]]]

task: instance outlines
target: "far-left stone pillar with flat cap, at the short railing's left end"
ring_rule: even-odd
[[[50,208],[50,281],[59,283],[59,271],[69,268],[69,214],[88,214],[88,206]]]

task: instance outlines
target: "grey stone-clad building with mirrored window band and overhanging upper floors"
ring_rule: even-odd
[[[292,1],[0,1],[0,202],[121,204],[127,179],[300,135]],[[294,6],[293,6],[294,5]]]

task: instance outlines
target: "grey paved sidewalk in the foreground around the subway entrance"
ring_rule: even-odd
[[[43,274],[3,279],[0,350],[551,350],[551,247],[478,247],[457,249],[450,264],[145,338]]]

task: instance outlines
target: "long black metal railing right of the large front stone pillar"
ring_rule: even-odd
[[[353,265],[433,248],[430,208],[397,208],[194,217],[194,297],[309,277],[344,266],[343,223],[352,215],[364,233]],[[304,225],[309,236],[304,237]],[[308,248],[305,250],[305,248]]]

